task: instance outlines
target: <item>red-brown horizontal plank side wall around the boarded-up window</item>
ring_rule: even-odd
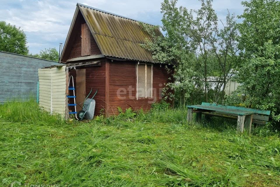
[[[114,61],[110,63],[110,93],[109,114],[117,115],[118,107],[123,110],[143,108],[149,110],[152,103],[161,100],[162,88],[168,82],[170,75],[164,66],[153,65],[153,98],[138,98],[136,100],[136,62]]]

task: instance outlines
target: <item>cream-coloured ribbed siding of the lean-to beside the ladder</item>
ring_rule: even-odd
[[[66,66],[38,69],[39,105],[51,114],[65,116]]]

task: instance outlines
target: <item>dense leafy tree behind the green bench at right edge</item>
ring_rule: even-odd
[[[280,2],[244,1],[239,48],[242,63],[237,81],[247,107],[272,110],[280,119]]]

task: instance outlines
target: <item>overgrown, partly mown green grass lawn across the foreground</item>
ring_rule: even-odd
[[[0,186],[280,186],[278,134],[188,125],[184,110],[64,122],[34,102],[0,106]]]

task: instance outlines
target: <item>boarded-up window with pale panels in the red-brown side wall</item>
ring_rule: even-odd
[[[153,68],[151,64],[139,63],[137,65],[137,98],[152,97]]]

